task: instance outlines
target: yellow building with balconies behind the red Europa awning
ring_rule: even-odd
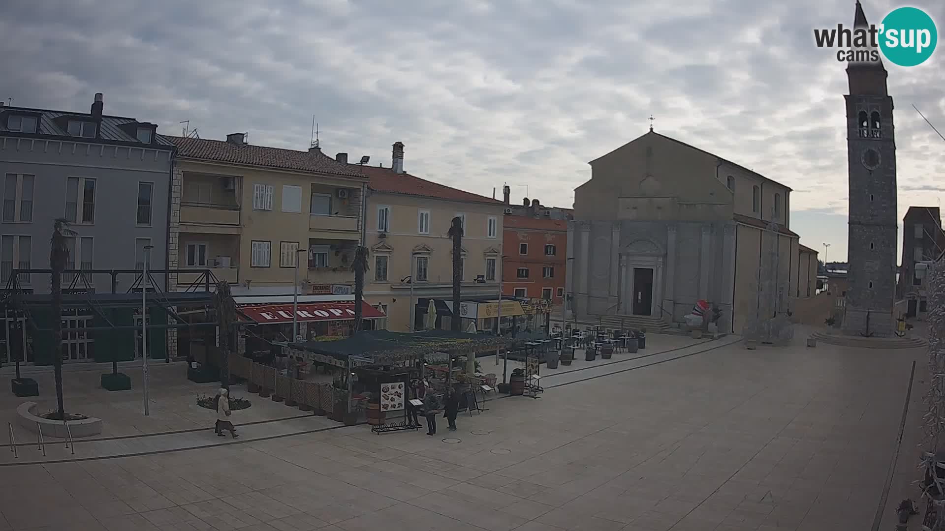
[[[351,262],[368,186],[360,166],[339,163],[318,147],[250,146],[244,133],[226,141],[168,139],[177,146],[168,262],[180,273],[171,275],[172,289],[227,281],[237,304],[252,310],[250,318],[284,325],[292,321],[286,311],[298,275],[300,334],[329,334],[330,322],[351,320],[345,305],[353,305]],[[313,321],[320,328],[306,330]],[[264,329],[285,334],[284,327]]]

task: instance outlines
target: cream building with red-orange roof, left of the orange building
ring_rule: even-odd
[[[347,157],[345,154],[341,156]],[[424,180],[404,171],[404,144],[393,145],[390,167],[363,166],[368,176],[365,245],[371,254],[365,300],[387,315],[387,330],[425,328],[433,302],[438,328],[453,318],[453,244],[447,232],[455,216],[463,219],[462,297],[498,298],[502,268],[505,205]],[[478,317],[467,304],[463,330]]]

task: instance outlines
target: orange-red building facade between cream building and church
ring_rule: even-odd
[[[568,222],[507,214],[503,225],[503,294],[560,304],[564,300]]]

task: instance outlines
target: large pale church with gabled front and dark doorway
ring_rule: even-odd
[[[813,291],[789,187],[652,129],[591,167],[568,228],[569,319],[682,323],[707,300],[741,333]]]

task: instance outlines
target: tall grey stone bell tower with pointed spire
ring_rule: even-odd
[[[868,27],[859,1],[854,27]],[[848,282],[843,333],[885,337],[895,331],[896,142],[892,97],[882,60],[847,66],[850,175]]]

